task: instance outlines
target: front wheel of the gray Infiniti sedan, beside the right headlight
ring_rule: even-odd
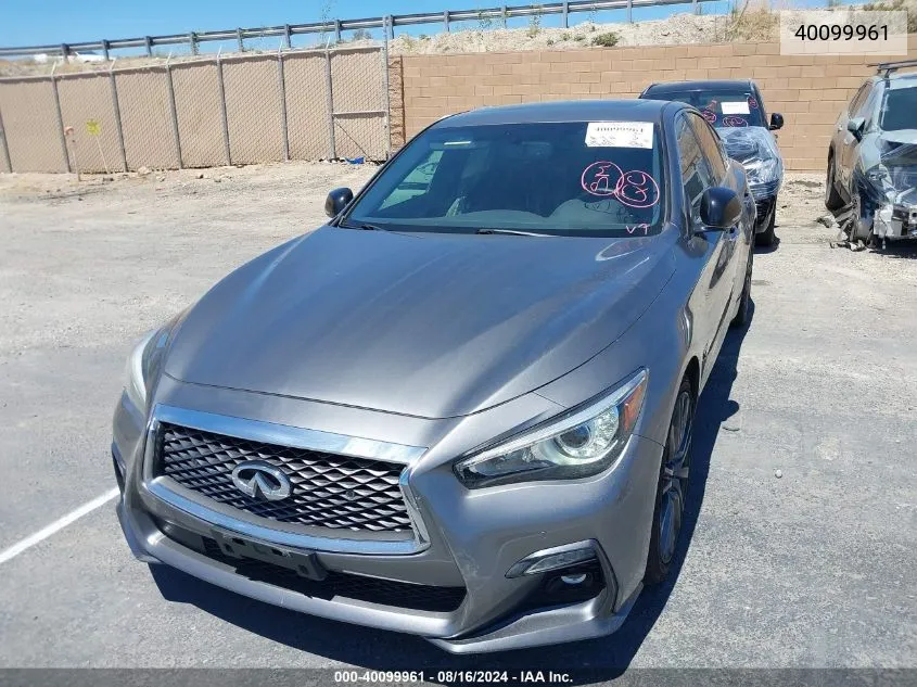
[[[688,492],[691,465],[695,406],[693,386],[685,377],[675,396],[675,409],[672,411],[668,435],[662,451],[650,550],[647,555],[647,570],[644,575],[644,581],[648,585],[659,584],[665,580],[675,558],[675,551],[678,549],[678,535],[685,517],[685,497]]]

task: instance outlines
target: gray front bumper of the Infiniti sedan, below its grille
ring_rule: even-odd
[[[308,550],[279,544],[284,542],[282,537],[267,533],[268,538],[260,538],[266,531],[253,531],[244,519],[209,518],[205,511],[192,512],[194,509],[180,502],[157,497],[142,469],[147,429],[123,398],[115,414],[113,455],[123,484],[118,518],[133,555],[251,598],[419,635],[446,651],[464,653],[607,635],[623,623],[641,588],[662,447],[639,435],[632,436],[610,471],[576,482],[469,491],[453,475],[449,465],[416,470],[410,488],[423,524],[420,545],[407,552],[348,552],[340,539],[328,539],[328,546],[316,539],[319,545]],[[233,538],[265,555],[286,557],[284,560],[314,557],[319,568],[337,581],[383,581],[417,589],[415,600],[453,594],[450,598],[458,602],[422,608],[410,603],[408,608],[398,602],[397,595],[355,598],[346,590],[320,594],[310,590],[318,587],[308,587],[314,583],[304,583],[304,591],[303,585],[251,574],[232,559],[214,554],[214,542]],[[571,571],[507,577],[520,560],[576,543],[596,552],[590,574],[601,582],[587,590],[587,598],[575,590],[570,594],[568,588],[557,595],[553,581]],[[459,589],[460,596],[455,597]]]

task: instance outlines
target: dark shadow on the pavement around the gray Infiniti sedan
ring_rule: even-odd
[[[752,302],[752,321],[753,317]],[[729,394],[747,331],[729,332],[700,398],[685,523],[668,580],[659,587],[645,589],[624,625],[609,637],[504,653],[448,656],[418,637],[295,613],[232,594],[165,565],[151,565],[153,578],[169,601],[191,603],[267,639],[369,670],[424,670],[428,671],[426,679],[431,679],[430,671],[443,667],[451,671],[574,671],[571,684],[613,679],[631,664],[678,580],[703,504],[710,457],[721,424],[739,409]],[[435,674],[432,677],[435,678]]]

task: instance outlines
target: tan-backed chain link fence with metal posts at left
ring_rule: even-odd
[[[2,78],[0,171],[385,160],[390,69],[347,47]]]

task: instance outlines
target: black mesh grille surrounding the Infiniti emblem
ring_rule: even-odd
[[[246,460],[280,468],[293,485],[289,497],[267,501],[232,483],[232,470]],[[163,422],[154,476],[247,513],[317,527],[369,532],[409,532],[402,489],[404,466],[366,458],[278,446]]]

